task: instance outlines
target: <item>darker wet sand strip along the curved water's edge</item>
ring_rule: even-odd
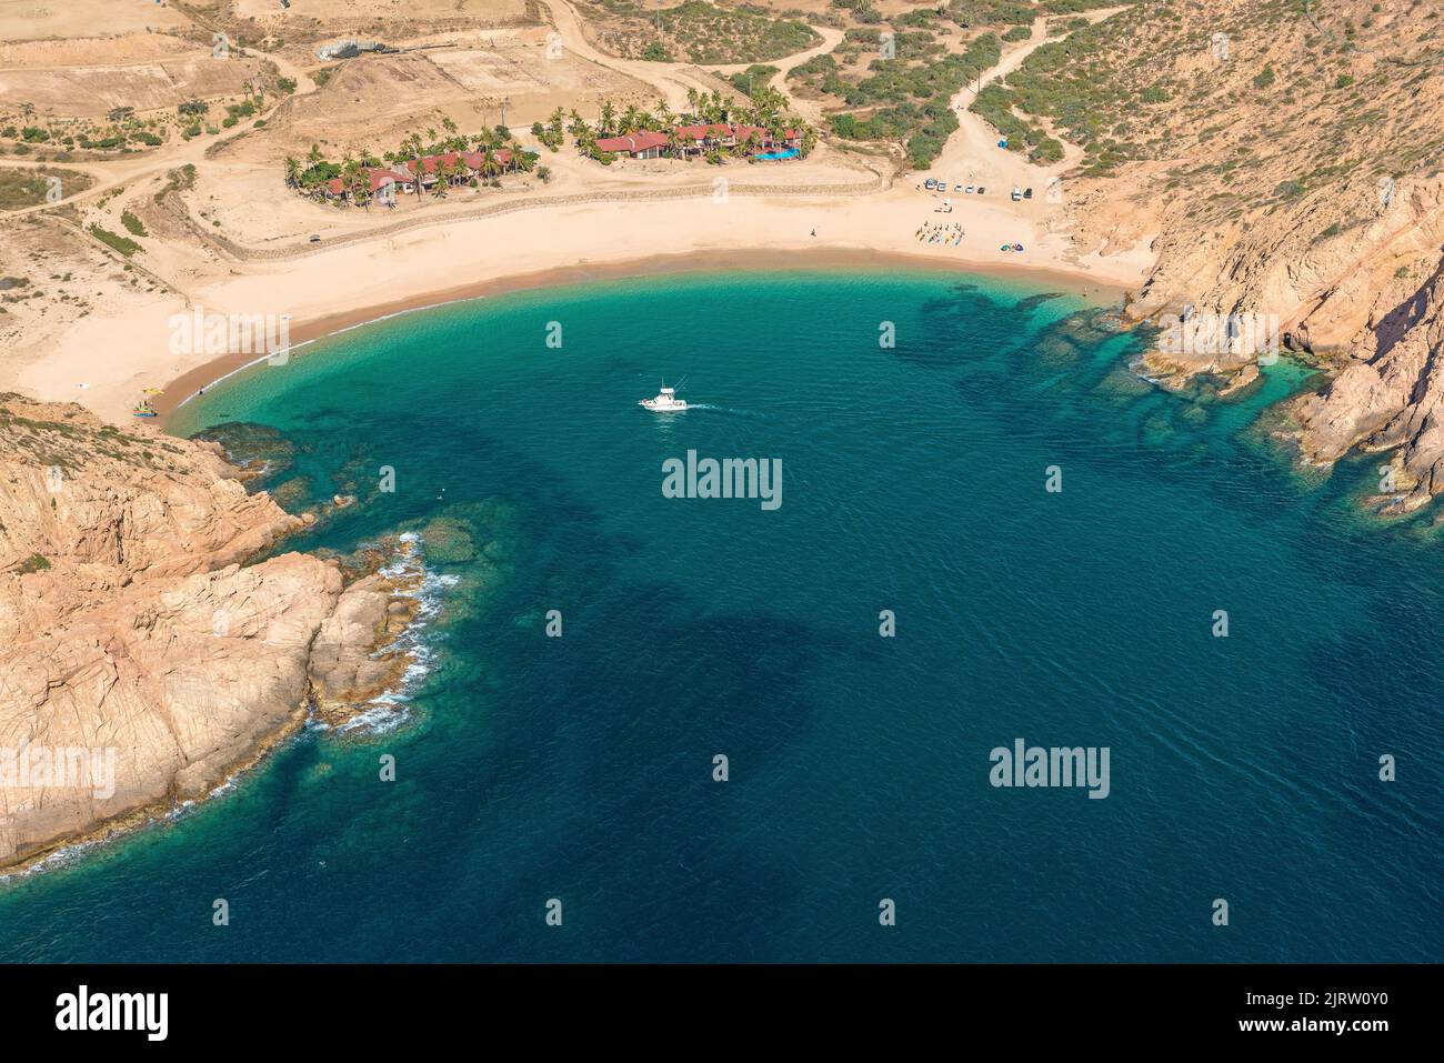
[[[420,311],[438,309],[451,303],[472,299],[488,299],[514,292],[534,292],[549,287],[566,287],[582,283],[605,283],[635,277],[687,276],[709,273],[747,272],[838,272],[865,274],[884,269],[907,269],[921,273],[943,273],[959,277],[995,276],[1015,280],[1032,280],[1095,302],[1110,305],[1125,296],[1128,287],[1118,282],[1095,276],[1087,270],[1067,270],[1053,266],[1030,266],[1022,263],[982,263],[962,259],[939,260],[926,254],[904,251],[874,251],[864,248],[817,247],[804,250],[703,250],[671,254],[650,254],[601,263],[578,263],[553,266],[542,270],[511,273],[488,277],[456,287],[419,292],[383,303],[368,303],[348,311],[338,311],[308,318],[290,328],[292,348],[313,344],[354,328],[371,325],[388,318]],[[176,412],[204,391],[217,387],[227,378],[264,363],[267,355],[254,352],[224,354],[188,368],[163,386],[163,394],[156,396],[153,406],[162,429],[170,429]]]

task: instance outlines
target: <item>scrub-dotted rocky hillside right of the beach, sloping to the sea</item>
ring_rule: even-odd
[[[1243,384],[1271,337],[1318,360],[1339,376],[1294,409],[1302,455],[1398,448],[1389,508],[1444,490],[1441,13],[1427,0],[1139,3],[1044,45],[973,104],[1011,149],[1057,137],[1082,150],[1054,189],[1080,251],[1158,234],[1135,319],[1225,322],[1184,326],[1180,342],[1178,318],[1162,318],[1152,371]]]

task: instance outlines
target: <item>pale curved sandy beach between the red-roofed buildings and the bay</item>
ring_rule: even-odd
[[[1038,237],[1040,204],[966,202],[895,186],[839,202],[829,198],[731,195],[521,209],[494,218],[423,225],[295,259],[245,263],[178,298],[133,300],[123,316],[77,322],[56,348],[13,368],[6,384],[45,400],[84,402],[110,420],[129,420],[143,389],[163,387],[157,410],[254,352],[217,357],[170,350],[173,315],[290,315],[293,344],[341,328],[452,299],[542,287],[588,277],[679,269],[807,264],[1037,273],[1048,283],[1108,290],[1136,286],[1148,254],[1077,257],[1066,238]],[[1001,201],[1001,202],[999,202]],[[1004,205],[1006,204],[1006,205]],[[1019,209],[1021,208],[1021,209]],[[1034,217],[1030,217],[1032,214]],[[917,230],[957,222],[959,246],[926,244]],[[816,235],[813,235],[816,233]],[[1024,253],[1004,253],[1004,243]],[[84,384],[84,387],[82,387]]]

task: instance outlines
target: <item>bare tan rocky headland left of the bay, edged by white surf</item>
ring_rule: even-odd
[[[404,670],[377,653],[404,588],[244,565],[302,520],[217,451],[0,399],[0,865],[204,796]]]

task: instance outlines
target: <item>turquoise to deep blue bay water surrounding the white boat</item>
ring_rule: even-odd
[[[358,495],[292,546],[420,532],[430,672],[400,726],[0,887],[0,958],[1438,959],[1434,533],[1360,514],[1376,461],[1289,468],[1297,365],[1167,396],[1095,321],[939,273],[654,277],[212,389],[183,430],[277,429],[293,508]],[[663,374],[702,406],[640,410]],[[781,507],[663,497],[687,449],[780,458]],[[1108,747],[1109,796],[989,786],[1017,738]]]

